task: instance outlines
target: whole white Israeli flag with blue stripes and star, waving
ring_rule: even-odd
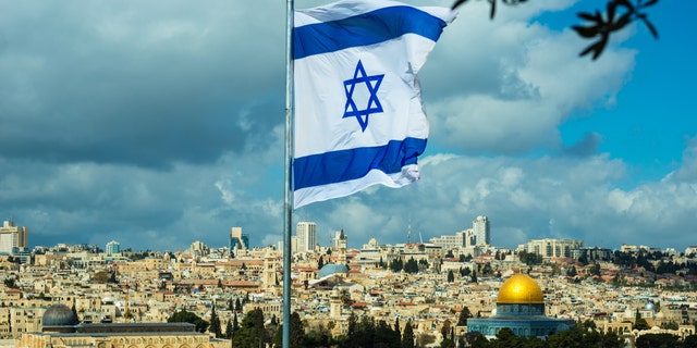
[[[419,178],[428,121],[416,74],[454,17],[388,0],[295,12],[295,208]]]

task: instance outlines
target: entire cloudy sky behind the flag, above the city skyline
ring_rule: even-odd
[[[296,0],[296,8],[322,2]],[[409,1],[450,5],[451,1]],[[421,181],[313,203],[351,247],[491,241],[697,245],[697,2],[663,0],[598,61],[568,28],[603,2],[469,1],[420,72]],[[0,0],[0,220],[32,246],[254,246],[283,229],[285,2]]]

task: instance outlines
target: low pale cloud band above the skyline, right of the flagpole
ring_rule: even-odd
[[[577,238],[616,248],[622,243],[687,246],[694,234],[697,185],[662,182],[620,189],[625,164],[607,156],[580,159],[472,158],[437,154],[423,179],[403,189],[308,206],[318,228],[344,228],[356,246],[454,234],[489,216],[492,243],[515,247],[534,238]],[[437,159],[437,160],[435,160]],[[549,221],[553,219],[553,234]]]

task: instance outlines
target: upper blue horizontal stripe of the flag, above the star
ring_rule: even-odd
[[[438,40],[448,23],[412,7],[390,7],[356,16],[293,28],[293,59],[379,44],[412,33]]]

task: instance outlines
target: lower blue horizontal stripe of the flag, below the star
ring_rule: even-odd
[[[391,140],[383,146],[297,158],[293,162],[294,189],[357,179],[371,170],[399,173],[402,166],[416,164],[417,157],[425,149],[426,139],[406,138]]]

